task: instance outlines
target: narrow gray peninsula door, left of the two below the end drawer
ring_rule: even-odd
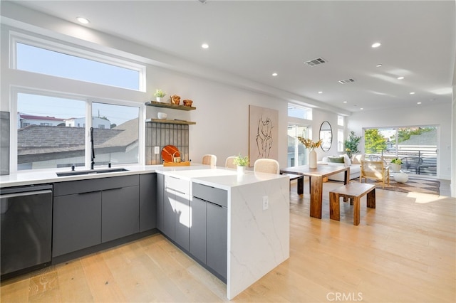
[[[190,253],[206,264],[206,201],[193,197],[190,201]]]

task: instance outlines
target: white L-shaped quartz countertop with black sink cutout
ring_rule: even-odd
[[[76,181],[87,179],[108,178],[113,176],[128,176],[132,174],[149,174],[157,172],[169,176],[175,176],[179,179],[194,181],[199,184],[213,186],[222,189],[229,189],[234,186],[257,183],[264,180],[288,178],[286,176],[275,174],[261,174],[247,171],[245,174],[237,174],[234,169],[225,169],[224,167],[211,167],[202,164],[191,164],[190,166],[162,166],[162,165],[133,165],[121,166],[127,171],[117,171],[102,174],[81,174],[73,176],[57,176],[58,172],[69,172],[67,169],[56,170],[36,170],[36,171],[19,171],[14,174],[0,176],[0,187],[26,186],[31,184],[48,184],[63,181]],[[113,169],[120,168],[113,166]],[[108,169],[98,168],[95,169]],[[86,169],[76,168],[76,171]]]

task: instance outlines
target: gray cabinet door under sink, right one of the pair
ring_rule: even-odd
[[[103,243],[139,232],[139,190],[139,186],[130,186],[102,192]]]

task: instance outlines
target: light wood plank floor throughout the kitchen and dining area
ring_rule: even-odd
[[[333,186],[321,220],[291,188],[289,260],[232,301],[456,302],[456,198],[376,189],[354,226],[348,203],[329,219]],[[2,282],[1,302],[221,302],[225,290],[157,234]]]

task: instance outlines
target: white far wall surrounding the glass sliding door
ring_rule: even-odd
[[[376,110],[375,112],[357,112],[348,118],[348,131],[353,130],[357,136],[363,135],[367,127],[408,127],[437,125],[440,132],[437,138],[437,178],[451,179],[451,105],[434,105],[400,110]],[[361,139],[360,147],[364,146]]]

